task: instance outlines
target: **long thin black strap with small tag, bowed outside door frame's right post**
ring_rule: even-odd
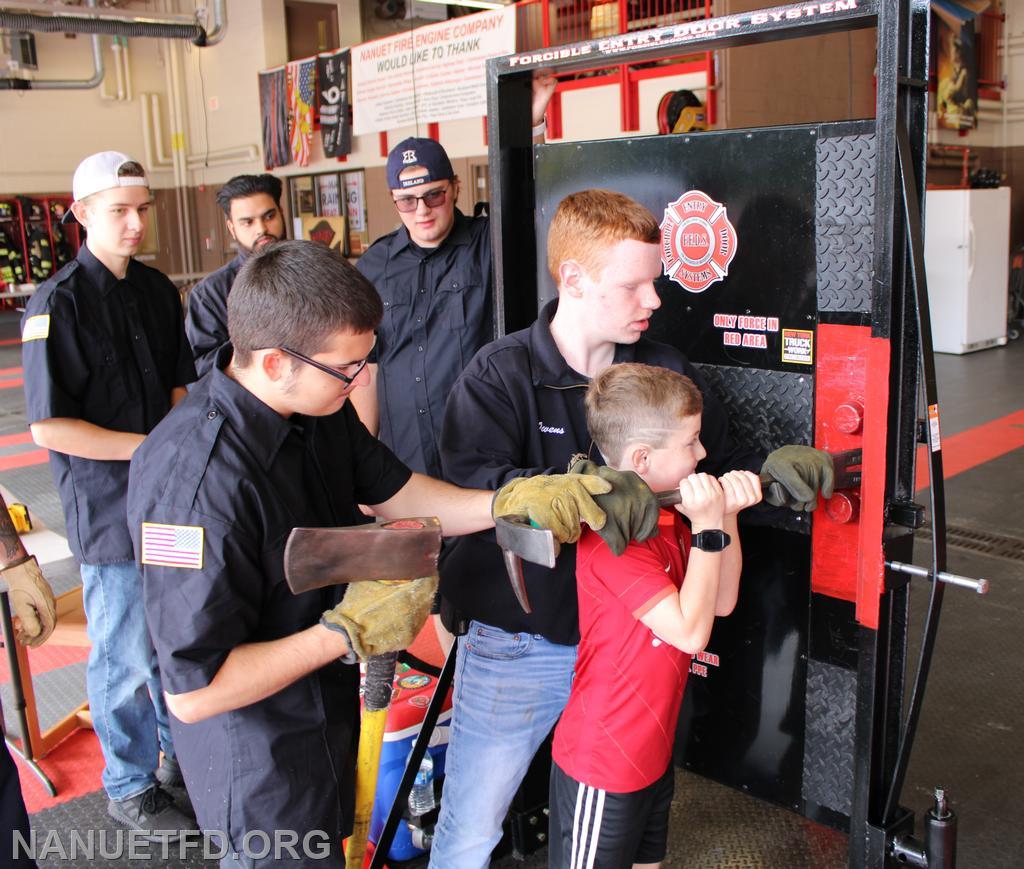
[[[913,163],[910,157],[910,138],[902,122],[896,123],[896,149],[900,178],[903,188],[903,210],[906,217],[907,237],[910,246],[910,273],[914,285],[914,314],[918,320],[918,335],[921,345],[921,364],[924,374],[925,403],[929,412],[932,408],[938,412],[938,389],[935,380],[935,358],[932,351],[932,328],[928,306],[928,287],[925,279],[925,251],[922,238],[921,209],[919,207],[919,186],[913,175]],[[929,420],[931,423],[931,420]],[[918,658],[918,672],[914,675],[913,687],[910,691],[910,703],[906,713],[903,732],[900,734],[899,749],[896,754],[896,765],[893,768],[893,778],[886,796],[885,810],[882,813],[883,825],[893,821],[903,780],[906,777],[910,761],[910,749],[921,718],[921,707],[925,697],[925,686],[928,674],[932,667],[932,653],[935,651],[935,638],[939,629],[939,615],[942,612],[942,596],[945,583],[939,581],[940,571],[946,569],[946,504],[945,487],[942,476],[942,450],[938,438],[938,423],[935,429],[928,426],[928,470],[929,470],[929,506],[932,517],[932,594],[928,602],[928,612],[925,616],[924,634],[921,639],[921,653]]]

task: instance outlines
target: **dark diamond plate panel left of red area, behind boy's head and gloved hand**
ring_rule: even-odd
[[[762,455],[787,443],[814,443],[814,378],[765,368],[737,368],[694,362],[725,405],[732,436]],[[802,513],[751,513],[746,521],[809,534]]]

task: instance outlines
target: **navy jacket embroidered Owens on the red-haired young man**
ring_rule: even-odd
[[[557,300],[537,321],[484,347],[452,390],[440,450],[444,479],[496,489],[514,477],[564,474],[577,459],[604,464],[587,430],[584,396],[590,381],[566,364],[551,335]],[[699,470],[760,467],[729,435],[725,409],[686,357],[641,338],[615,347],[613,362],[644,362],[691,378],[703,396]],[[509,632],[540,634],[553,643],[579,642],[575,546],[563,546],[554,569],[523,563],[534,612],[512,592],[494,532],[456,537],[441,563],[441,595],[464,618]]]

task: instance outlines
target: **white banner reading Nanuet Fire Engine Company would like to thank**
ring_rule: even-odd
[[[515,51],[515,7],[352,48],[356,135],[486,115],[484,60]]]

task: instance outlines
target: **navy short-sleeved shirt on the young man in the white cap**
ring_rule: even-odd
[[[171,390],[196,378],[174,285],[134,260],[119,280],[86,245],[29,299],[22,341],[30,423],[60,417],[147,434]],[[128,463],[50,450],[50,468],[75,558],[133,560]]]

